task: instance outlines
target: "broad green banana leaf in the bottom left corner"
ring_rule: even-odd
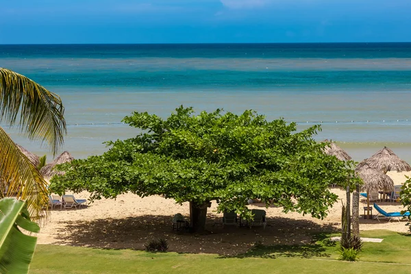
[[[37,238],[21,232],[39,232],[40,227],[30,221],[24,201],[14,198],[0,200],[0,273],[28,273],[36,249]]]

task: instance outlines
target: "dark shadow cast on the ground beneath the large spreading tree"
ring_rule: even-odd
[[[53,244],[96,247],[103,249],[144,250],[149,240],[164,238],[169,251],[179,253],[217,253],[221,256],[251,256],[269,258],[269,249],[287,256],[324,256],[317,246],[319,232],[334,232],[333,224],[319,225],[308,220],[281,217],[267,218],[267,226],[232,227],[215,225],[221,221],[215,215],[208,216],[207,233],[191,234],[172,230],[172,216],[145,215],[123,219],[97,219],[59,223]],[[257,248],[261,242],[264,248]],[[248,251],[248,252],[247,252]],[[272,252],[271,252],[272,253]],[[264,255],[265,254],[265,255]],[[294,255],[292,255],[294,254]],[[310,255],[311,254],[311,255]],[[265,257],[264,257],[265,256]],[[277,255],[278,256],[278,255]]]

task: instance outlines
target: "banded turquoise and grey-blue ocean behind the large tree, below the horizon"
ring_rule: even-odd
[[[411,162],[411,43],[0,45],[0,67],[62,97],[62,151],[101,154],[107,140],[136,136],[121,120],[134,111],[166,118],[179,105],[197,112],[256,110],[267,119],[321,124],[353,160],[384,146]],[[16,128],[20,145],[52,155]]]

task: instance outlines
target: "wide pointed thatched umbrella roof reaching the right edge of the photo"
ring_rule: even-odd
[[[383,173],[387,173],[387,171],[411,171],[411,166],[406,161],[401,160],[388,147],[384,147],[370,158],[363,160],[357,167],[361,168],[364,164]]]

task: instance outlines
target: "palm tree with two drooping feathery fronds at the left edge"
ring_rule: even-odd
[[[58,95],[31,79],[0,68],[0,121],[16,125],[29,139],[40,140],[53,153],[66,134],[64,108]],[[34,219],[47,212],[48,190],[36,166],[0,127],[0,198],[27,202]]]

